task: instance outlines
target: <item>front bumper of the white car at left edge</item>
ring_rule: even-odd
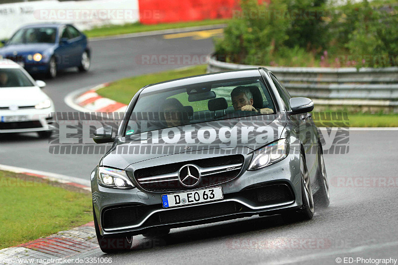
[[[18,109],[16,111],[0,110],[0,133],[39,132],[52,130],[50,125],[54,122],[54,107],[45,109],[32,108]],[[26,121],[2,122],[7,116],[27,116]]]

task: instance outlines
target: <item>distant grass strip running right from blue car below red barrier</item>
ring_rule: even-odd
[[[111,35],[121,35],[121,34],[128,34],[128,33],[137,33],[137,32],[144,32],[144,31],[172,29],[172,28],[184,28],[184,27],[223,24],[223,23],[227,23],[228,21],[229,21],[229,19],[211,19],[211,20],[208,19],[208,20],[201,20],[201,21],[162,23],[162,24],[154,24],[154,25],[143,25],[143,24],[137,22],[137,23],[131,23],[131,24],[124,24],[124,25],[102,26],[102,27],[86,30],[86,31],[84,31],[84,33],[87,34],[87,36],[89,38],[92,38],[92,37],[104,37],[104,36],[111,36]]]

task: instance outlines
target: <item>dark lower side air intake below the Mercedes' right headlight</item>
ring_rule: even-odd
[[[244,190],[241,194],[251,201],[261,203],[261,205],[283,203],[294,199],[292,191],[286,184],[250,188]]]

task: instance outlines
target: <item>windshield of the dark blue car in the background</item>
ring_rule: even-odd
[[[55,43],[57,29],[53,27],[22,28],[18,30],[8,44]]]

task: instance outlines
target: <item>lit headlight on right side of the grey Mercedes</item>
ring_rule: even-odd
[[[258,170],[275,164],[289,154],[289,142],[287,139],[275,141],[253,152],[253,158],[247,170]]]

